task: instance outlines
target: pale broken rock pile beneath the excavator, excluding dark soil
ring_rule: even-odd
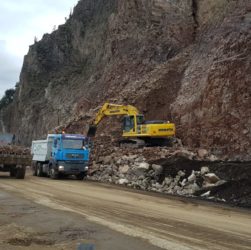
[[[101,147],[99,153],[107,149]],[[93,159],[90,167],[90,180],[126,185],[141,190],[155,191],[176,195],[200,195],[210,197],[212,189],[224,185],[209,167],[202,166],[199,170],[183,169],[174,173],[167,171],[165,166],[153,162],[159,159],[169,160],[185,158],[187,160],[214,161],[216,158],[206,150],[192,152],[184,148],[152,147],[141,149],[109,148],[105,156]]]

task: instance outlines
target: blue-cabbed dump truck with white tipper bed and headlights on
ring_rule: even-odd
[[[32,141],[31,154],[35,176],[75,175],[81,180],[88,171],[89,146],[83,135],[48,134],[46,140]]]

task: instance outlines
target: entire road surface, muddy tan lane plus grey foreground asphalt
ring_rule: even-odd
[[[213,203],[28,175],[0,177],[0,204],[0,249],[251,249],[251,211]]]

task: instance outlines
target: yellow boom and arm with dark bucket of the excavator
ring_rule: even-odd
[[[97,125],[105,116],[112,115],[138,115],[139,111],[137,108],[131,105],[118,105],[112,103],[105,103],[98,111],[95,119],[91,123],[87,136],[93,137],[96,134]]]

